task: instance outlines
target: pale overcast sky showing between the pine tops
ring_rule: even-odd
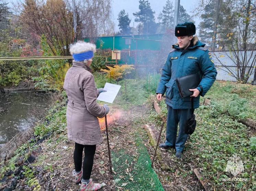
[[[148,0],[151,6],[151,9],[155,11],[155,21],[158,22],[158,15],[163,10],[163,6],[165,5],[167,0]],[[173,7],[175,5],[175,0],[171,0],[173,2]],[[133,16],[132,13],[139,11],[139,0],[112,0],[112,10],[113,10],[113,21],[115,23],[115,30],[118,31],[118,13],[124,9],[125,12],[128,12],[129,17],[131,18],[131,24],[130,26],[133,26],[133,22],[135,19],[135,16]],[[196,3],[198,0],[180,0],[180,4],[186,9],[187,13],[189,15],[192,15],[193,9],[196,7]],[[196,26],[199,24],[199,19],[194,18],[194,21],[196,22]],[[134,26],[136,27],[138,23],[134,23]]]

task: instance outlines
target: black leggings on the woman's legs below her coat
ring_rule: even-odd
[[[80,145],[75,143],[74,163],[76,172],[80,172],[82,169],[83,148],[83,179],[88,180],[90,179],[92,173],[93,157],[96,151],[96,145]]]

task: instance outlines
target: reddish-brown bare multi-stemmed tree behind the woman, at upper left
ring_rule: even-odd
[[[25,0],[21,21],[24,27],[38,36],[45,35],[47,44],[56,55],[69,55],[69,44],[73,42],[72,12],[63,0]]]

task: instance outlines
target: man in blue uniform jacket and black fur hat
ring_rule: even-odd
[[[204,96],[214,81],[217,71],[214,67],[212,56],[204,48],[197,36],[194,23],[186,22],[175,27],[175,36],[178,44],[173,45],[173,50],[169,53],[165,65],[162,69],[162,76],[156,90],[157,99],[161,100],[166,94],[167,104],[167,129],[166,141],[159,147],[169,149],[176,148],[176,157],[182,156],[185,142],[188,135],[185,133],[185,125],[191,115],[191,97],[194,100],[194,108],[199,107],[199,98]],[[190,89],[193,95],[182,98],[179,94],[176,78],[198,73],[201,82],[195,89]],[[179,133],[177,137],[177,126],[179,123]]]

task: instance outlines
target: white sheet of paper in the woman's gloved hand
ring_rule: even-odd
[[[112,104],[118,91],[120,90],[120,87],[120,85],[106,83],[104,86],[104,90],[106,90],[106,92],[100,93],[97,100]]]

